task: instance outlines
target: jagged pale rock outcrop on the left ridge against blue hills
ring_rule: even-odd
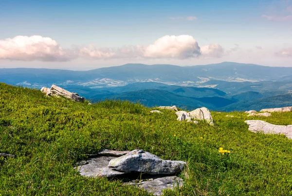
[[[85,98],[80,97],[77,93],[71,93],[54,84],[52,85],[51,88],[42,87],[40,91],[45,93],[47,96],[65,97],[65,98],[72,99],[74,101],[81,101],[81,102],[85,100]]]

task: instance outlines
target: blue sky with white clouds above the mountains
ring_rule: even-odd
[[[0,0],[0,68],[292,67],[292,0]]]

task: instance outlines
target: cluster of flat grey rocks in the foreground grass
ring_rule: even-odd
[[[111,151],[103,150],[96,157],[79,161],[77,169],[86,177],[123,177],[129,179],[125,185],[144,188],[156,196],[164,189],[183,185],[183,179],[175,176],[183,171],[186,162],[164,160],[143,150]],[[135,174],[146,174],[141,179]]]

